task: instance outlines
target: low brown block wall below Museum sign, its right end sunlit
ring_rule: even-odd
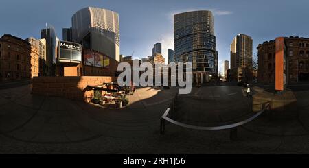
[[[87,90],[87,85],[98,85],[104,82],[116,81],[117,77],[106,76],[34,77],[32,93],[89,101],[89,97],[91,97],[93,91]]]

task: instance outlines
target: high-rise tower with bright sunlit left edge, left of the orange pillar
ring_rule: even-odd
[[[252,65],[252,38],[238,34],[231,43],[231,69]]]

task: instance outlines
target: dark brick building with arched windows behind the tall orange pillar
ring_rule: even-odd
[[[309,81],[309,38],[285,37],[286,80]],[[275,82],[275,40],[258,45],[258,82]]]

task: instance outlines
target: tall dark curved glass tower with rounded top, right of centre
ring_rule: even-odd
[[[174,60],[192,62],[193,82],[208,82],[210,76],[216,76],[217,59],[211,11],[175,14]]]

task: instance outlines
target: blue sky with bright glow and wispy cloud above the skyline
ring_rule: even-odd
[[[62,27],[71,27],[71,16],[87,6],[108,8],[119,13],[120,51],[141,58],[161,42],[163,56],[173,49],[173,14],[190,10],[211,10],[217,38],[219,64],[229,60],[229,45],[236,34],[253,38],[253,53],[265,40],[277,36],[309,37],[307,0],[1,0],[0,35],[40,38],[50,23],[62,39]]]

